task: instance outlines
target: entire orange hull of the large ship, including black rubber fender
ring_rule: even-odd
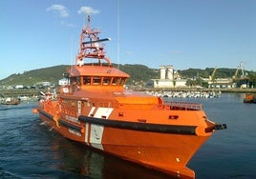
[[[187,169],[186,164],[216,127],[214,123],[205,122],[203,110],[181,109],[181,103],[180,107],[176,104],[175,110],[168,105],[169,110],[81,107],[86,113],[78,116],[67,111],[77,111],[77,104],[85,103],[79,100],[74,100],[75,105],[71,106],[62,103],[65,103],[65,98],[61,103],[49,100],[41,103],[38,111],[40,118],[63,136],[182,178],[195,177],[194,171]],[[107,109],[112,112],[102,118]],[[119,116],[120,110],[129,120],[121,120],[124,116]],[[96,117],[98,113],[101,118]],[[181,120],[166,116],[179,116]]]

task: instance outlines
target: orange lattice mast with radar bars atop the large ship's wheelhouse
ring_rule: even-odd
[[[110,38],[99,39],[100,30],[91,29],[91,16],[87,16],[87,24],[80,34],[80,49],[76,55],[76,65],[83,66],[85,58],[93,58],[98,61],[105,60],[109,65],[111,61],[105,56],[105,50],[101,42],[109,41]]]

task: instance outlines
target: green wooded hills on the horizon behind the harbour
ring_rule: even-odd
[[[117,68],[117,64],[113,64]],[[69,66],[61,65],[54,66],[51,68],[44,68],[39,70],[29,70],[24,73],[11,74],[11,76],[0,80],[0,86],[32,86],[38,82],[51,82],[57,84],[58,80],[63,78],[62,74],[66,72],[66,69]],[[147,82],[150,79],[160,78],[160,70],[150,69],[143,65],[119,65],[119,69],[130,74],[130,79],[128,84],[139,84]],[[205,70],[201,69],[188,69],[188,70],[178,70],[181,78],[195,78],[203,77],[208,78],[212,74],[214,68],[206,68]],[[220,68],[216,70],[215,78],[231,78],[235,74],[236,69],[226,69]],[[252,80],[254,86],[256,86],[256,72],[254,71],[245,71],[248,73],[248,76]],[[241,75],[241,71],[238,72],[238,76]]]

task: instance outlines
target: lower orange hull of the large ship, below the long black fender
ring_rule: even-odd
[[[72,124],[65,119],[56,121],[52,114],[42,109],[39,109],[39,116],[64,137],[181,178],[195,178],[195,172],[185,166],[209,137],[196,135],[193,128],[183,131],[181,127],[177,127],[177,131],[162,130],[158,126],[150,129],[138,124],[135,129],[131,129],[125,122],[121,127],[117,122],[114,122],[116,126],[106,124],[105,120],[99,124],[100,119],[87,116],[78,117],[77,122]]]

